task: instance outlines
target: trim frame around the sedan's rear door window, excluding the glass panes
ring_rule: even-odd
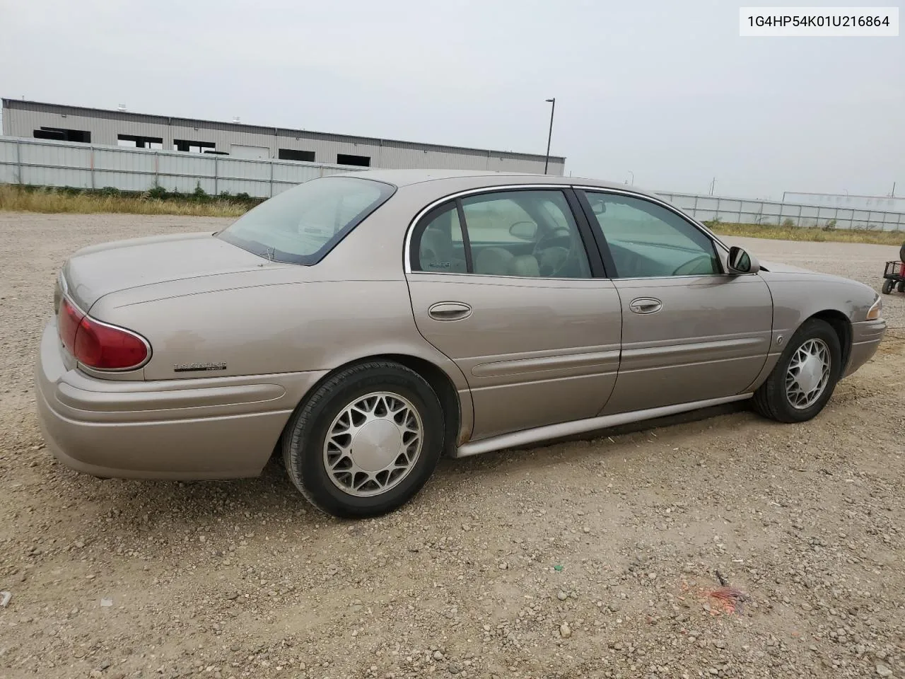
[[[569,211],[572,213],[572,219],[576,224],[576,228],[578,229],[578,236],[581,238],[582,245],[585,248],[587,262],[591,269],[590,276],[582,278],[549,278],[544,276],[496,276],[494,274],[486,273],[425,272],[414,269],[414,257],[417,256],[414,248],[412,247],[414,234],[416,231],[418,231],[418,226],[421,225],[422,220],[424,220],[425,217],[430,216],[431,213],[433,213],[433,211],[437,208],[443,207],[447,203],[450,203],[452,201],[455,202],[456,209],[459,211],[459,222],[462,225],[462,241],[466,244],[466,262],[468,262],[468,268],[472,269],[471,242],[468,240],[468,223],[464,218],[465,215],[464,210],[462,209],[462,198],[481,194],[538,190],[558,191],[565,197],[566,205],[568,206]],[[572,196],[570,196],[570,194],[572,194]],[[573,200],[575,202],[573,202]],[[500,184],[496,186],[481,186],[478,188],[469,188],[463,191],[457,191],[447,196],[443,196],[442,198],[438,198],[437,200],[432,201],[428,205],[424,206],[421,210],[419,210],[418,213],[414,215],[414,218],[409,223],[408,228],[405,231],[405,247],[403,249],[403,264],[405,275],[408,276],[414,274],[422,274],[428,276],[487,276],[518,281],[593,281],[595,279],[606,278],[607,276],[605,273],[604,264],[599,259],[599,245],[595,242],[595,240],[588,240],[588,235],[594,235],[594,229],[591,228],[591,225],[586,224],[586,215],[584,215],[580,211],[576,212],[576,202],[577,198],[575,196],[574,187],[568,184]]]

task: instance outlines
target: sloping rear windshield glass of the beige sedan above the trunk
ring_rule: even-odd
[[[274,262],[315,264],[394,191],[370,179],[312,179],[264,201],[219,237]]]

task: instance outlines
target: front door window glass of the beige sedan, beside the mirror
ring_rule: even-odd
[[[713,241],[672,210],[633,196],[586,197],[620,278],[721,273]]]

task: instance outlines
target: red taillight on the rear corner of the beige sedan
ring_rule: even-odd
[[[57,317],[63,346],[81,364],[96,370],[138,368],[150,355],[145,339],[130,330],[101,323],[63,299]]]

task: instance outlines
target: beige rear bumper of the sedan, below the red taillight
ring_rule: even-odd
[[[56,322],[35,367],[38,420],[52,454],[95,476],[256,476],[301,397],[324,372],[148,382],[97,379],[64,365]]]

